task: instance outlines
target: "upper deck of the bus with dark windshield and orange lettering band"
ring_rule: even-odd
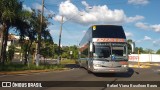
[[[94,42],[125,42],[126,35],[122,26],[93,25],[83,36],[79,45],[83,46],[92,39],[94,39]]]

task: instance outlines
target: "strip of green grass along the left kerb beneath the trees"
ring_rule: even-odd
[[[76,60],[62,60],[59,65],[41,64],[38,67],[34,64],[24,65],[21,63],[9,63],[2,65],[0,63],[0,71],[25,71],[25,70],[64,70],[66,64],[75,64]]]

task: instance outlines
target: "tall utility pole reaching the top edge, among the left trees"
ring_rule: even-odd
[[[42,11],[41,11],[41,22],[40,22],[40,30],[38,32],[37,45],[36,45],[36,66],[39,66],[39,57],[40,57],[40,45],[41,45],[41,31],[43,24],[43,13],[44,13],[44,0],[42,0]]]

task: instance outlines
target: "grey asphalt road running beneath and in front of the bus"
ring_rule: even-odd
[[[71,70],[54,71],[21,75],[0,75],[0,81],[160,81],[160,66],[150,68],[131,68],[127,74],[88,74],[83,68],[76,65],[67,65]],[[66,84],[65,82],[59,82]],[[80,82],[78,82],[80,83]],[[87,84],[89,82],[85,82]],[[141,82],[140,82],[141,83]],[[75,85],[76,83],[72,83]],[[70,85],[71,86],[71,85]],[[0,90],[159,90],[160,88],[113,88],[113,87],[46,87],[46,88],[0,88]]]

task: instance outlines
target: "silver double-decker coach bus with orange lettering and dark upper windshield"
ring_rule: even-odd
[[[80,67],[93,73],[128,72],[128,46],[123,27],[93,25],[79,43]]]

